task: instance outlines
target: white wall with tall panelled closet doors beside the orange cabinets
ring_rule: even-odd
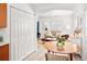
[[[29,4],[10,4],[11,60],[23,60],[36,51],[35,15]]]

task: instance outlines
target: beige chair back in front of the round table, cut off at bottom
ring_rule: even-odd
[[[69,61],[68,54],[62,53],[45,53],[46,61]]]

